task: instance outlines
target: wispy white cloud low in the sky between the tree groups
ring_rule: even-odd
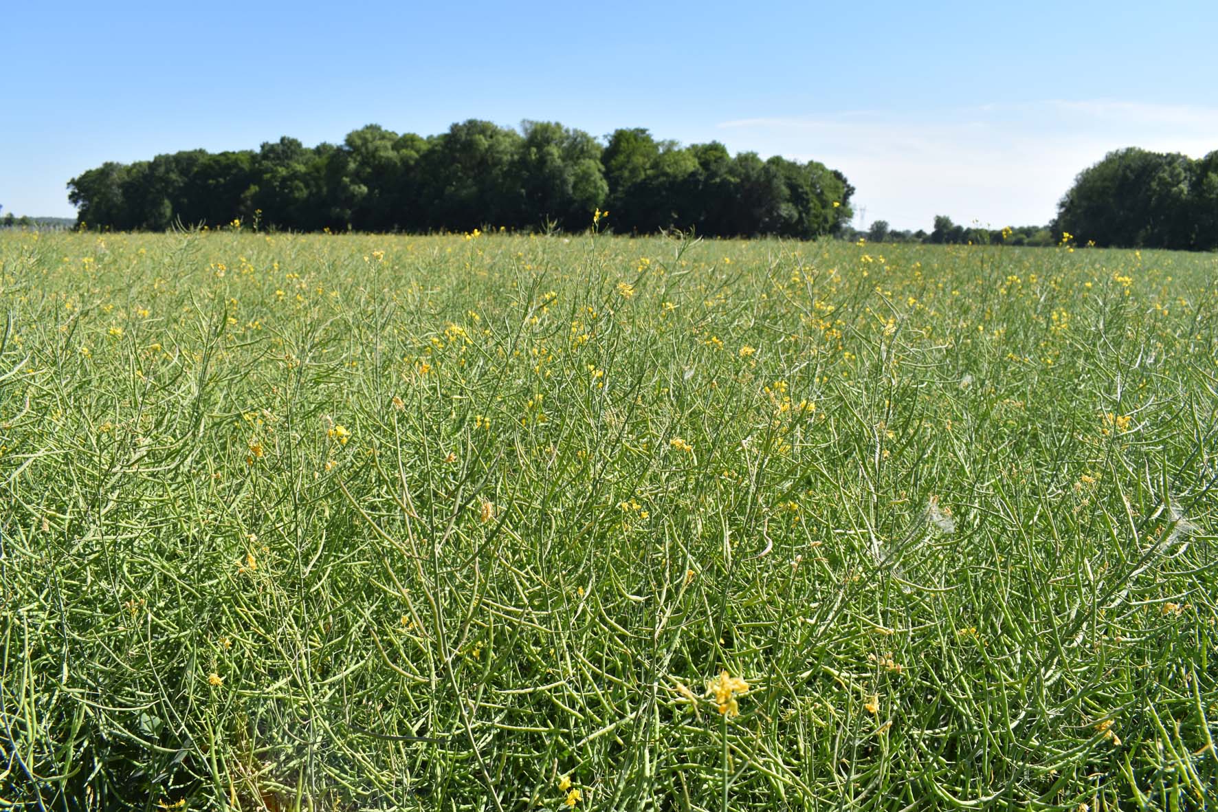
[[[1218,149],[1218,107],[1055,99],[742,118],[716,130],[737,150],[842,169],[868,221],[929,228],[943,213],[1000,226],[1047,222],[1074,176],[1111,150],[1199,157]]]

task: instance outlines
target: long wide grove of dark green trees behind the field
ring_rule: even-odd
[[[341,145],[189,150],[106,162],[68,182],[78,223],[164,230],[257,219],[284,230],[581,230],[608,210],[619,233],[815,238],[850,222],[845,176],[816,161],[682,146],[642,128],[604,143],[551,122],[456,123],[421,137],[378,124]]]

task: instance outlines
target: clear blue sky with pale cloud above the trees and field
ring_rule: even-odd
[[[1218,149],[1218,4],[10,4],[0,204],[106,160],[560,121],[815,158],[867,221],[1047,222],[1111,149]]]

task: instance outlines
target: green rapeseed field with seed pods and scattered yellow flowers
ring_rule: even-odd
[[[1216,280],[0,234],[0,806],[1203,808]]]

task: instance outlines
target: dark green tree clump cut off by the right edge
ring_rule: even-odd
[[[1218,248],[1218,156],[1128,148],[1084,169],[1057,205],[1055,232],[1100,246]]]

